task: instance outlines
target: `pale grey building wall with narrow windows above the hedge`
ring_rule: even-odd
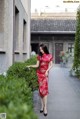
[[[30,0],[0,0],[0,73],[30,55]]]

